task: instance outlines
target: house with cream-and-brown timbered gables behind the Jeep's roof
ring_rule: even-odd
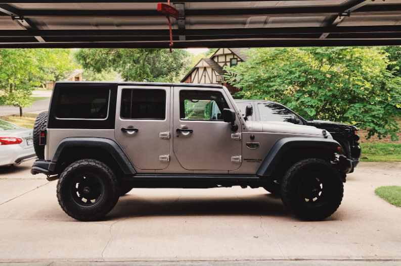
[[[243,51],[249,48],[219,48],[210,58],[202,58],[198,64],[181,80],[182,83],[220,84],[226,86],[231,94],[240,89],[224,80],[224,75],[230,74],[225,67],[231,67],[246,61]]]

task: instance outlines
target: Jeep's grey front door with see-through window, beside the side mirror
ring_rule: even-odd
[[[225,91],[175,87],[173,97],[173,150],[181,166],[188,170],[238,169],[241,126],[233,132],[224,122],[223,109],[233,109]],[[240,123],[238,118],[236,122]]]

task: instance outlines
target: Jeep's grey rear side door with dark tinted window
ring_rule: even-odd
[[[139,169],[170,162],[170,87],[119,86],[115,138]]]

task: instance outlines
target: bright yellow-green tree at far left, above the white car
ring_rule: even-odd
[[[72,71],[70,49],[0,49],[0,101],[22,109],[32,104],[35,86]]]

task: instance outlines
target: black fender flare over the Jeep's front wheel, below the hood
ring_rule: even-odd
[[[283,159],[284,154],[294,147],[316,147],[327,148],[333,152],[339,152],[341,145],[334,139],[315,138],[315,137],[288,137],[276,142],[270,150],[263,163],[257,171],[258,176],[271,176],[277,165]]]

